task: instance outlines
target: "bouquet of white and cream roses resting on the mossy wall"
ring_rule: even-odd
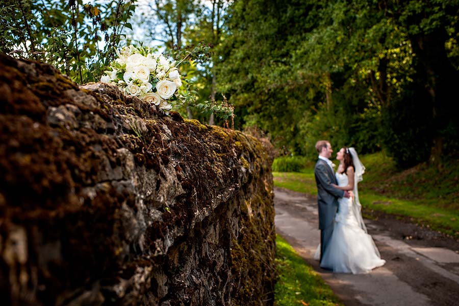
[[[175,62],[143,46],[124,46],[116,53],[118,58],[110,63],[100,82],[116,85],[127,95],[158,105],[169,114],[170,102],[179,98],[182,85]]]

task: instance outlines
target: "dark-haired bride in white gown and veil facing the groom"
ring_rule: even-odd
[[[340,161],[336,178],[338,189],[353,191],[353,198],[340,198],[335,216],[335,228],[325,249],[320,267],[339,273],[367,273],[386,263],[362,219],[357,183],[362,181],[365,167],[354,148],[341,148],[336,159]],[[314,255],[320,257],[320,245]]]

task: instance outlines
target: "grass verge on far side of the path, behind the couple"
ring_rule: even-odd
[[[359,183],[364,214],[372,211],[407,218],[459,239],[459,162],[439,169],[426,163],[397,171],[391,158],[383,153],[361,156],[366,167]],[[314,168],[301,173],[274,172],[274,185],[317,195]]]

